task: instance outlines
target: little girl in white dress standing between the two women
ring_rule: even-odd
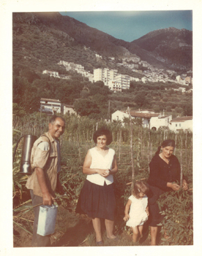
[[[125,217],[123,220],[127,221],[126,225],[132,227],[132,241],[137,242],[140,234],[142,237],[143,223],[148,219],[148,193],[149,188],[143,181],[134,183],[132,195],[128,198],[125,205]],[[130,209],[130,213],[129,212]]]

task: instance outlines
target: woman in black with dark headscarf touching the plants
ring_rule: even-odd
[[[152,193],[148,197],[150,213],[148,225],[150,225],[151,246],[156,245],[158,225],[160,225],[163,218],[157,205],[157,199],[166,191],[177,191],[180,189],[180,186],[177,184],[177,181],[180,182],[180,163],[178,158],[173,156],[175,146],[174,140],[164,140],[149,164],[150,176],[148,184]],[[182,188],[184,190],[188,189],[187,181],[185,181],[184,177]]]

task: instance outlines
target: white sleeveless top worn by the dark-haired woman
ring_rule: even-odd
[[[93,149],[89,149],[91,156],[92,156],[92,162],[90,168],[98,168],[98,169],[112,169],[112,163],[114,160],[114,149],[109,149],[107,155],[102,156],[95,147]],[[104,178],[100,174],[88,174],[86,179],[88,181],[91,181],[92,183],[95,183],[100,186],[104,186],[104,181],[107,185],[114,182],[113,175],[107,176],[107,178]]]

